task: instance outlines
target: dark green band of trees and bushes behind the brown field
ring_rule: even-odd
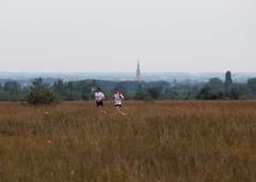
[[[256,77],[246,83],[233,82],[231,73],[224,81],[217,77],[205,83],[135,82],[83,80],[78,82],[56,81],[53,85],[37,78],[31,87],[21,87],[16,81],[0,85],[0,101],[21,101],[32,105],[50,104],[62,100],[93,100],[94,89],[102,88],[107,100],[111,100],[113,88],[127,100],[247,100],[256,99]]]

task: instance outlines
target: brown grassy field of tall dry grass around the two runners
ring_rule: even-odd
[[[1,181],[255,181],[256,101],[0,104]]]

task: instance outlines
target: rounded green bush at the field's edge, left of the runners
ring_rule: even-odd
[[[39,77],[32,82],[31,91],[25,100],[31,105],[43,105],[55,103],[56,97],[53,92],[50,92],[49,85],[43,83],[42,78]]]

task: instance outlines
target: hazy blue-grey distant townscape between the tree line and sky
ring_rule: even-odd
[[[0,84],[15,80],[26,87],[32,81],[42,77],[44,82],[52,85],[61,79],[63,82],[75,82],[87,79],[107,80],[107,81],[136,81],[138,79],[135,72],[0,72]],[[212,77],[221,80],[225,78],[225,72],[141,72],[139,80],[144,82],[166,81],[170,83],[201,83],[207,82]],[[234,82],[247,82],[249,78],[256,77],[256,72],[232,72]]]

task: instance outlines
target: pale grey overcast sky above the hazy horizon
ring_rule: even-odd
[[[0,71],[256,71],[255,0],[0,0]]]

